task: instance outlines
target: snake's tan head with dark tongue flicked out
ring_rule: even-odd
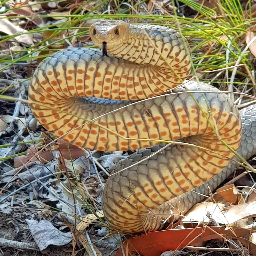
[[[118,45],[127,40],[129,25],[121,20],[100,20],[90,27],[90,36],[95,45],[107,51],[116,50]]]

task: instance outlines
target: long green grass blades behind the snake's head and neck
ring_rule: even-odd
[[[49,1],[46,1],[47,3]],[[85,1],[84,4],[87,4],[89,1]],[[189,43],[192,48],[193,53],[193,62],[196,67],[196,71],[209,71],[214,69],[219,69],[227,66],[232,66],[238,57],[241,54],[241,51],[244,47],[244,39],[247,31],[255,24],[255,19],[253,17],[245,18],[242,12],[242,7],[240,4],[236,5],[237,1],[221,1],[221,6],[219,6],[219,10],[222,13],[222,16],[216,19],[216,10],[208,9],[200,4],[197,4],[192,1],[181,1],[184,4],[193,7],[196,11],[199,12],[199,15],[196,18],[184,18],[175,15],[136,15],[132,13],[132,10],[127,9],[123,11],[122,14],[99,14],[96,10],[100,6],[104,6],[107,1],[101,2],[97,6],[92,6],[91,12],[87,12],[83,15],[79,14],[81,10],[77,9],[77,14],[72,14],[70,16],[67,15],[37,15],[38,18],[66,18],[66,21],[63,21],[58,24],[56,27],[55,24],[50,24],[47,26],[43,26],[40,28],[31,29],[27,34],[33,33],[43,33],[48,31],[48,38],[43,38],[38,43],[36,43],[33,47],[27,47],[22,51],[13,52],[12,56],[5,57],[0,59],[0,63],[5,63],[6,66],[0,68],[0,72],[4,69],[13,66],[15,62],[21,61],[32,61],[37,58],[42,58],[50,55],[50,53],[43,54],[42,56],[37,57],[36,54],[38,52],[42,52],[42,50],[49,49],[51,47],[56,48],[65,48],[64,42],[65,40],[79,40],[79,37],[88,34],[88,27],[80,27],[79,32],[76,32],[77,26],[84,24],[86,21],[90,21],[91,19],[97,18],[112,18],[112,19],[129,19],[135,23],[143,23],[143,21],[152,22],[154,24],[166,24],[172,28],[178,28],[181,30],[182,34],[188,37]],[[239,1],[238,1],[239,2]],[[43,3],[43,2],[42,2]],[[144,1],[137,3],[137,6],[134,6],[134,9],[139,10],[139,7],[142,6]],[[22,7],[22,6],[21,6]],[[21,8],[20,7],[20,8]],[[116,12],[120,9],[120,1],[117,1]],[[114,8],[113,7],[113,8]],[[14,11],[19,8],[9,9],[8,11]],[[114,9],[115,10],[115,9]],[[92,13],[95,14],[92,14]],[[22,18],[33,18],[32,15],[17,17],[17,16],[7,16],[8,19],[17,20]],[[179,25],[179,26],[178,26]],[[26,34],[24,33],[24,34]],[[63,36],[64,38],[59,38],[58,40],[52,40],[57,36]],[[3,43],[8,40],[12,40],[16,35],[12,36],[2,36],[0,39],[0,43]],[[224,37],[225,38],[221,38]],[[196,42],[195,42],[196,41]],[[230,41],[230,47],[227,48],[227,44]],[[202,52],[203,51],[205,52]],[[50,49],[51,52],[55,51],[55,49]],[[56,49],[59,50],[59,49]],[[229,52],[228,60],[226,60],[226,52]],[[5,51],[3,51],[5,53]],[[6,52],[8,54],[8,51]],[[25,54],[20,58],[16,58],[18,54]],[[241,59],[241,63],[246,65],[247,73],[242,71],[243,69],[238,69],[240,72],[239,77],[237,77],[239,83],[243,83],[248,79],[248,72],[253,70],[252,62],[253,60],[250,57],[250,53],[247,52],[243,58]],[[223,71],[224,73],[224,71]],[[200,79],[204,81],[209,81],[213,75],[203,75]]]

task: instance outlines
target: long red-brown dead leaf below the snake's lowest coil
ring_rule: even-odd
[[[137,252],[143,256],[159,256],[169,250],[180,250],[187,245],[194,246],[198,242],[234,236],[250,236],[251,231],[245,229],[225,230],[225,227],[204,226],[179,230],[162,230],[130,238],[124,242],[125,256]],[[234,235],[235,234],[235,235]],[[122,256],[119,248],[116,256]]]

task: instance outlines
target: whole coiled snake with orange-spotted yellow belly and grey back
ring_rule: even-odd
[[[237,150],[255,153],[255,105],[239,112],[226,93],[186,80],[188,41],[166,25],[100,20],[89,33],[100,49],[64,49],[38,65],[30,108],[67,143],[135,150],[105,183],[104,216],[118,231],[159,230],[234,170]]]

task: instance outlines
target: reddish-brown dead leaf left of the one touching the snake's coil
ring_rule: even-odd
[[[21,167],[24,164],[26,164],[29,160],[30,160],[29,165],[31,165],[33,164],[33,162],[39,161],[39,159],[42,164],[45,164],[53,159],[53,154],[51,150],[41,151],[37,156],[35,156],[37,152],[38,152],[38,149],[34,145],[32,145],[27,149],[26,155],[16,156],[14,158],[14,162],[13,162],[14,167],[15,168]]]

